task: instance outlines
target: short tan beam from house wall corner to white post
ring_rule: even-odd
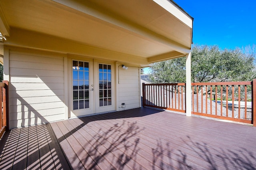
[[[183,53],[180,53],[178,51],[172,51],[170,53],[164,53],[164,54],[161,54],[161,55],[156,55],[156,56],[153,56],[153,57],[149,57],[148,58],[148,63],[155,63],[155,62],[158,62],[158,61],[164,61],[164,60],[174,59],[174,58],[184,57],[184,56],[186,56],[186,55],[183,54]]]

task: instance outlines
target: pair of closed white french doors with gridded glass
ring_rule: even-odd
[[[72,59],[70,117],[116,110],[114,63]]]

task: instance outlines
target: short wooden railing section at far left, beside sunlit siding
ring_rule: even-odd
[[[8,129],[8,81],[0,83],[0,138]]]

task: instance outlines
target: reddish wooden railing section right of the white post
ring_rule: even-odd
[[[192,114],[252,123],[252,81],[191,85]]]

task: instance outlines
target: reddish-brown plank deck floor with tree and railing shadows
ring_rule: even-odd
[[[0,169],[256,169],[256,127],[138,108],[10,130]]]

